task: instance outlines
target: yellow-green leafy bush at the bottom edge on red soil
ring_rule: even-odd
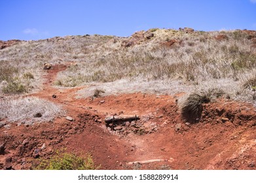
[[[37,170],[94,170],[98,169],[94,165],[91,154],[85,157],[77,154],[57,151],[50,159],[40,159]]]

